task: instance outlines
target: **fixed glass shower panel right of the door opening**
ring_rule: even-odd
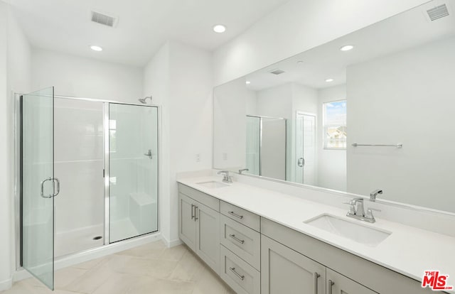
[[[109,103],[109,242],[158,230],[158,109]]]

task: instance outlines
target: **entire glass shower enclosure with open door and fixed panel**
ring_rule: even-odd
[[[66,99],[68,102],[57,101],[58,107],[54,107],[55,99]],[[94,107],[87,105],[90,102]],[[95,104],[102,104],[102,111],[94,111],[97,109]],[[85,236],[73,234],[84,232],[87,228],[84,227],[85,222],[77,222],[80,212],[87,213],[87,209],[77,205],[88,205],[93,213],[105,216],[104,224],[100,224],[104,227],[104,234],[99,236],[104,241],[92,243],[92,247],[83,247],[80,251],[159,230],[158,107],[58,97],[51,87],[21,94],[16,100],[16,109],[17,258],[21,267],[48,288],[54,288],[54,261],[58,257],[55,256],[55,248],[60,246],[55,243],[55,238],[58,240],[60,234],[65,239]],[[84,111],[91,111],[90,116],[87,112],[87,119],[84,119]],[[100,118],[95,117],[97,115]],[[58,125],[63,121],[63,126]],[[100,126],[102,130],[98,129]],[[88,151],[87,146],[99,145],[100,136],[103,138],[104,163],[95,165],[92,162],[99,159],[91,158],[90,154],[97,152]],[[55,141],[58,143],[55,144]],[[65,148],[68,144],[80,146]],[[100,189],[75,187],[79,184],[77,181],[87,180],[85,175],[100,177],[104,193],[99,192]],[[100,203],[100,200],[104,202],[104,207],[90,205],[90,201]],[[60,207],[63,205],[70,207],[63,209]],[[55,214],[55,211],[65,212],[65,215]],[[70,232],[58,232],[65,227],[56,225],[60,220],[80,223],[81,227],[73,226]],[[92,238],[92,233],[87,237],[90,238],[88,241],[96,239]],[[77,240],[73,241],[77,243]],[[67,254],[70,253],[73,252]]]

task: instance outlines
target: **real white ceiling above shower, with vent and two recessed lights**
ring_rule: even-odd
[[[6,0],[31,45],[143,66],[166,40],[213,50],[289,0]],[[118,16],[115,28],[90,11]],[[213,25],[228,30],[214,33]],[[96,53],[90,45],[104,50]]]

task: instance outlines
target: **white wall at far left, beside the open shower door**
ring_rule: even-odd
[[[9,288],[15,268],[14,228],[14,92],[30,89],[30,45],[14,14],[0,1],[0,290]]]

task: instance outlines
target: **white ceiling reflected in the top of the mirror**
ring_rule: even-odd
[[[450,15],[429,21],[427,9],[439,4],[446,4]],[[247,88],[255,91],[288,82],[314,89],[343,85],[349,65],[454,36],[455,0],[436,0],[253,72],[245,80],[251,82]],[[355,48],[341,52],[339,49],[343,45],[355,45]],[[299,60],[302,62],[297,63]],[[284,70],[284,73],[269,73],[275,69]],[[328,78],[334,81],[328,83]]]

